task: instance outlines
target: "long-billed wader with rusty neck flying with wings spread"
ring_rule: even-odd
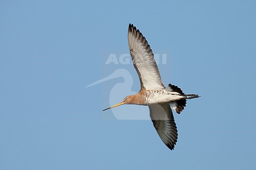
[[[187,99],[200,96],[184,94],[178,86],[162,82],[154,54],[146,38],[133,24],[129,24],[128,43],[132,62],[141,83],[141,90],[125,97],[122,102],[104,109],[108,110],[122,104],[136,104],[149,107],[150,118],[158,135],[166,146],[173,150],[178,139],[178,130],[172,109],[180,114],[186,106]]]

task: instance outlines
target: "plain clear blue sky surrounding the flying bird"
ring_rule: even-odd
[[[252,170],[256,168],[255,1],[0,1],[0,170]],[[165,85],[201,95],[178,115],[169,150],[151,121],[109,107],[126,69],[129,23],[154,53]],[[119,55],[117,55],[119,56]],[[122,114],[144,106],[120,106]],[[140,111],[139,109],[144,109]]]

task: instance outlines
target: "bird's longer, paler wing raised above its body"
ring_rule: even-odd
[[[141,89],[165,89],[152,49],[146,38],[133,24],[129,25],[128,42],[132,62],[141,82]]]

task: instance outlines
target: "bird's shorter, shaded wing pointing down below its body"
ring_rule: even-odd
[[[159,104],[148,107],[150,110],[150,118],[158,135],[166,146],[173,150],[178,139],[178,130],[170,105]]]

